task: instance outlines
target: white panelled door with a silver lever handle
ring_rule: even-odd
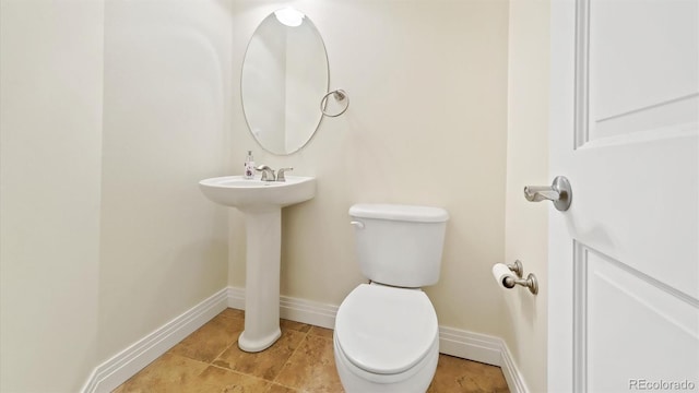
[[[699,391],[698,21],[552,1],[550,392]]]

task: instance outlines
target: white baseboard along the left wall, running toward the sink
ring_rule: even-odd
[[[97,366],[83,385],[82,393],[110,392],[145,366],[165,354],[204,323],[223,311],[228,301],[227,288],[139,340],[128,348]]]

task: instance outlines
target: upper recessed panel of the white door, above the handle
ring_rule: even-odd
[[[698,12],[696,1],[590,2],[590,140],[696,124]]]

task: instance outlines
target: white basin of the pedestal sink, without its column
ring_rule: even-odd
[[[211,201],[246,212],[308,201],[316,194],[316,178],[286,176],[286,181],[261,181],[224,176],[202,180],[199,188]]]

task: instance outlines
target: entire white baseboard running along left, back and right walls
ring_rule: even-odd
[[[209,322],[226,306],[245,310],[245,289],[230,286],[221,289],[209,299],[97,366],[81,392],[110,392]],[[292,321],[332,329],[335,325],[336,314],[337,306],[288,296],[282,296],[280,299],[280,315]],[[439,352],[445,355],[498,366],[502,369],[510,392],[529,392],[509,348],[501,338],[440,326]]]

